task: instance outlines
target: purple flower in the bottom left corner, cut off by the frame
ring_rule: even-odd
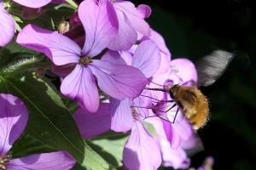
[[[75,161],[66,151],[34,154],[12,159],[8,153],[26,127],[27,109],[11,94],[0,94],[0,169],[62,170],[73,167]]]

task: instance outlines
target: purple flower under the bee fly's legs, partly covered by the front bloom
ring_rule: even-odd
[[[118,52],[109,51],[102,59],[125,65],[125,60],[120,58]],[[138,45],[131,60],[131,65],[149,78],[160,65],[160,51],[154,42],[144,41]],[[143,91],[143,94],[135,99],[110,98],[110,105],[102,104],[94,116],[88,117],[88,112],[81,109],[75,114],[75,120],[84,138],[91,138],[109,129],[115,132],[131,130],[123,152],[124,165],[128,169],[157,169],[161,163],[159,145],[142,123],[143,118],[148,116],[147,108],[151,105],[151,99],[144,96],[150,97],[150,92]],[[144,108],[136,108],[134,105]]]

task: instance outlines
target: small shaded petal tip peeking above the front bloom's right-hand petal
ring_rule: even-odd
[[[108,50],[106,54],[102,56],[102,60],[108,61],[115,65],[126,65],[125,59],[121,58],[119,52]]]

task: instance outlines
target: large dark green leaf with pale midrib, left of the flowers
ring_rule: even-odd
[[[26,133],[53,150],[67,150],[73,157],[84,160],[84,141],[59,94],[42,79],[32,75],[0,76],[0,92],[18,96],[29,110]]]

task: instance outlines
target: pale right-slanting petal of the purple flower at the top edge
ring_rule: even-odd
[[[133,3],[128,1],[113,3],[113,6],[116,10],[120,10],[125,14],[125,17],[130,21],[131,26],[136,31],[142,33],[145,36],[150,35],[150,26],[144,20],[146,16],[145,12],[142,11],[142,8],[137,9]]]

